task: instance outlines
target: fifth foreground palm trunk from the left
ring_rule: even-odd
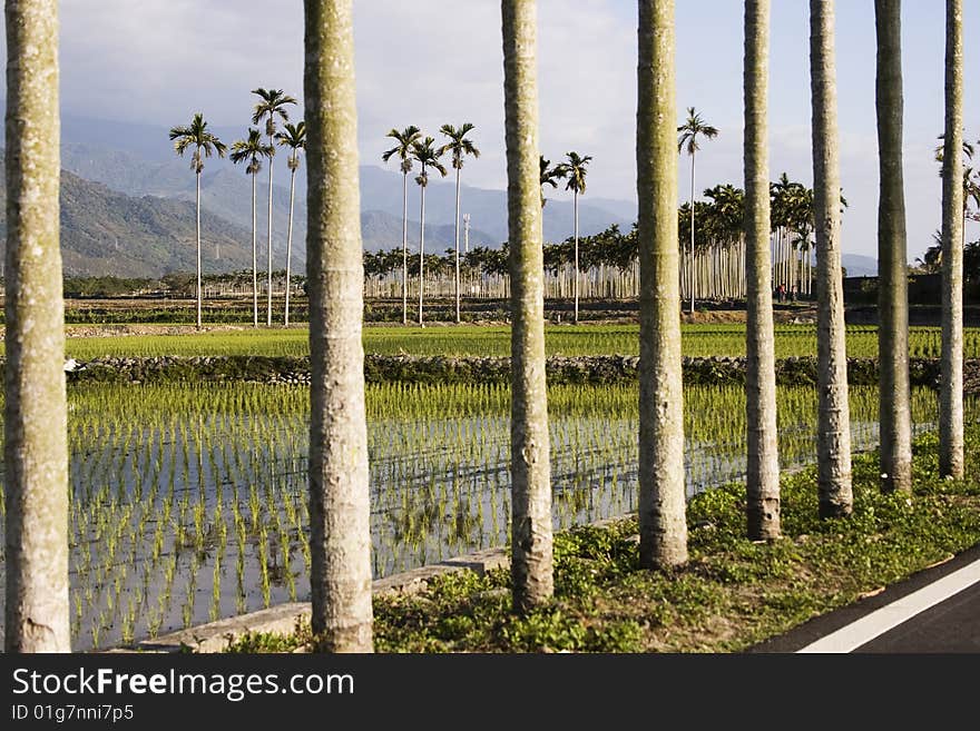
[[[776,364],[770,286],[770,0],[745,0],[746,518],[753,541],[780,537]]]

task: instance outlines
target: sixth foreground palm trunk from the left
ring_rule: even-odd
[[[841,186],[833,0],[810,0],[813,202],[817,278],[817,492],[821,517],[849,515],[851,413],[841,280]]]

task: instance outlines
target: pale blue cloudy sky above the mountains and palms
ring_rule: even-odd
[[[908,251],[940,225],[933,160],[943,128],[943,3],[903,8]],[[463,182],[506,187],[499,0],[356,0],[354,33],[362,165],[379,165],[392,127],[440,138],[445,122],[476,125],[481,150]],[[980,3],[966,2],[966,127],[980,139]],[[301,100],[303,3],[258,0],[61,0],[61,108],[66,113],[171,127],[203,111],[213,126],[248,125],[255,87]],[[841,177],[850,204],[843,250],[876,255],[878,142],[874,3],[836,3]],[[808,2],[774,0],[770,170],[812,182]],[[743,3],[678,0],[678,124],[695,107],[721,130],[696,158],[696,194],[742,186]],[[540,0],[539,139],[545,157],[592,156],[586,196],[635,200],[636,3]],[[971,41],[971,39],[973,39]],[[163,144],[167,144],[165,140]],[[680,201],[689,158],[678,158]],[[395,169],[395,164],[391,164]],[[551,194],[561,197],[569,194]],[[463,204],[463,208],[465,205]],[[968,226],[968,240],[980,226]]]

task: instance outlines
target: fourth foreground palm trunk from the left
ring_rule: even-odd
[[[648,569],[687,562],[674,37],[674,0],[639,0],[639,560]]]

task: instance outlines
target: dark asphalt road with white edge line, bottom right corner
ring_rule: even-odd
[[[980,653],[980,546],[748,652]]]

